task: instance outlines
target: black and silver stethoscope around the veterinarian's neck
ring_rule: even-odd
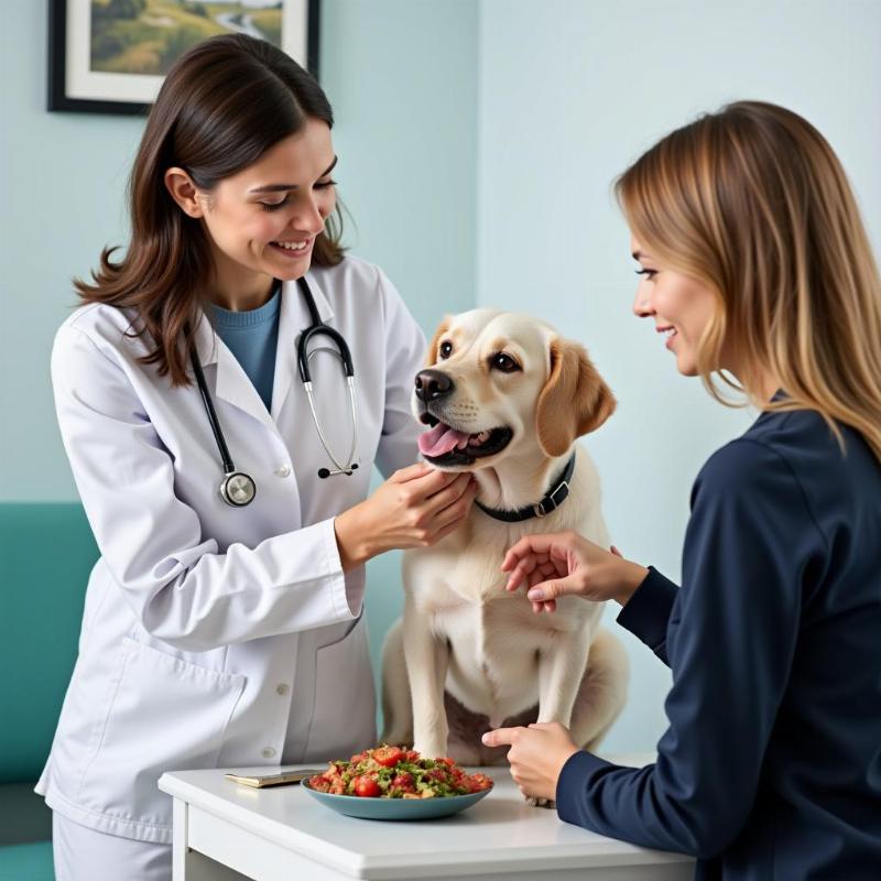
[[[355,390],[355,370],[351,363],[351,352],[349,347],[338,330],[328,327],[318,315],[318,308],[315,305],[315,298],[312,295],[308,283],[304,278],[296,280],[303,296],[306,300],[306,305],[309,309],[309,317],[312,324],[300,335],[300,340],[296,346],[296,360],[300,367],[300,379],[303,381],[303,388],[306,390],[306,396],[309,401],[309,410],[312,411],[312,420],[315,423],[315,428],[318,432],[318,437],[322,442],[325,453],[334,463],[334,468],[319,468],[318,477],[327,478],[334,475],[347,475],[351,477],[352,471],[358,468],[358,463],[355,461],[356,452],[358,449],[358,401]],[[325,336],[335,346],[322,346],[309,351],[309,341],[314,337]],[[312,373],[309,371],[309,359],[319,351],[329,351],[335,355],[342,363],[342,370],[346,374],[346,382],[349,387],[349,401],[351,403],[351,424],[352,437],[351,449],[349,450],[348,464],[342,465],[340,460],[334,455],[330,449],[327,438],[322,431],[322,425],[318,422],[318,414],[315,411],[315,401],[313,399]],[[217,418],[217,412],[214,409],[214,402],[208,393],[208,387],[205,382],[205,374],[202,371],[202,365],[196,356],[195,348],[189,350],[189,360],[193,365],[193,372],[196,374],[196,382],[202,393],[202,401],[205,404],[205,412],[208,414],[208,422],[211,425],[214,439],[217,443],[217,449],[220,453],[220,459],[224,464],[224,480],[220,483],[220,498],[233,508],[243,508],[250,504],[254,496],[257,496],[257,483],[254,479],[244,474],[244,471],[237,471],[236,466],[232,464],[232,457],[229,455],[229,447],[227,447],[224,432],[220,428],[220,421]]]

